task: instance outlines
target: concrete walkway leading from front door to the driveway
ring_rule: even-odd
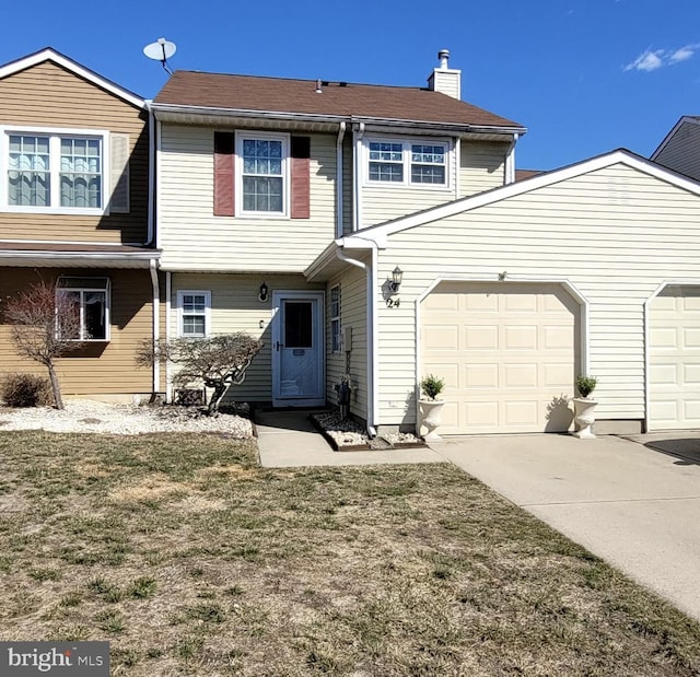
[[[307,411],[260,411],[256,413],[256,428],[260,465],[266,468],[446,462],[442,455],[428,447],[334,452],[308,421]]]

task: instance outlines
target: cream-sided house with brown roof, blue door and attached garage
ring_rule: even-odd
[[[168,335],[260,336],[250,401],[335,402],[347,374],[370,431],[413,428],[429,373],[447,433],[565,431],[586,373],[598,431],[699,425],[698,184],[623,150],[515,183],[525,129],[460,101],[447,57],[427,87],[176,72]]]

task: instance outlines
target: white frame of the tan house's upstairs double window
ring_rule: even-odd
[[[50,200],[47,207],[34,205],[10,205],[8,172],[10,168],[10,137],[48,137],[49,138],[49,182]],[[101,177],[102,205],[100,207],[61,207],[60,195],[60,140],[97,139],[101,142]],[[20,213],[71,214],[71,215],[108,215],[110,196],[109,132],[104,129],[77,129],[72,127],[32,127],[3,125],[0,126],[0,210]]]

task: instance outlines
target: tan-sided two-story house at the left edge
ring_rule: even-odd
[[[142,98],[52,49],[0,67],[0,373],[42,369],[16,354],[3,302],[57,282],[84,341],[58,361],[63,394],[161,389],[135,369],[160,322],[149,138]]]

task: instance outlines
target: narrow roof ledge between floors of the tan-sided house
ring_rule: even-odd
[[[0,242],[0,265],[81,268],[149,268],[158,249],[84,243]]]

